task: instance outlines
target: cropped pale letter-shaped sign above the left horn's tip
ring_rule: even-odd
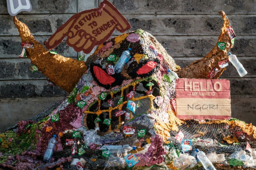
[[[21,11],[31,11],[30,0],[7,0],[8,13],[11,16],[17,15]]]

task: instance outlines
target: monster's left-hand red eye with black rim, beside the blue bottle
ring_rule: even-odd
[[[103,69],[99,64],[92,63],[90,72],[98,85],[105,87],[106,89],[121,85],[123,82],[120,74],[108,75],[106,69]]]

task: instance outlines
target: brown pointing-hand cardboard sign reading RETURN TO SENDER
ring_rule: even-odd
[[[95,45],[105,42],[115,28],[121,33],[131,28],[125,17],[107,0],[99,8],[85,10],[73,15],[57,29],[45,45],[53,49],[67,36],[67,45],[75,51],[88,54]]]

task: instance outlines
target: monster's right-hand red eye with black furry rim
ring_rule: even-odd
[[[145,60],[144,62],[141,62],[137,64],[137,62],[130,63],[130,65],[127,68],[127,72],[129,76],[132,78],[135,77],[147,77],[154,73],[157,73],[157,71],[160,68],[160,61],[159,59],[153,59],[152,61]]]

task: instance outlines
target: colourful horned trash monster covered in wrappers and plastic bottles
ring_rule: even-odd
[[[176,78],[209,78],[215,67],[218,71],[210,77],[215,79],[225,70],[218,62],[229,58],[233,42],[227,32],[229,20],[223,11],[219,13],[224,24],[218,42],[226,43],[225,48],[216,43],[204,58],[182,69],[155,37],[141,29],[107,40],[83,62],[49,53],[14,17],[22,42],[34,44],[26,49],[27,58],[70,94],[0,134],[0,168],[256,166],[253,125],[235,118],[176,117]]]

